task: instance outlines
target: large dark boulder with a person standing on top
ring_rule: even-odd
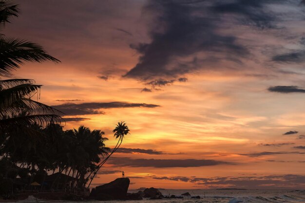
[[[117,178],[113,182],[96,186],[89,198],[93,200],[125,200],[130,184],[129,178]]]

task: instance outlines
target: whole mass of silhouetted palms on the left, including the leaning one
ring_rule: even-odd
[[[17,180],[28,186],[36,181],[42,189],[56,171],[74,177],[77,188],[89,187],[130,130],[125,122],[117,123],[117,144],[110,150],[101,130],[64,130],[59,115],[64,112],[32,99],[41,88],[33,79],[2,79],[25,62],[60,62],[36,43],[2,34],[18,14],[17,4],[0,0],[0,194],[12,190]]]

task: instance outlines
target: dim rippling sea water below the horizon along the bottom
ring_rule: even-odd
[[[137,192],[130,190],[128,192]],[[164,196],[180,196],[189,192],[184,199],[130,200],[130,201],[43,201],[28,199],[22,203],[305,203],[305,190],[160,190]],[[201,199],[191,197],[200,196]]]

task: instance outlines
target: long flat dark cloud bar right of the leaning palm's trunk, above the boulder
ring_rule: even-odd
[[[115,157],[113,159],[109,159],[108,164],[113,164],[115,166],[167,168],[216,166],[221,164],[233,163],[204,159],[131,159]]]

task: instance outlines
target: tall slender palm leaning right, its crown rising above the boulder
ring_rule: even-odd
[[[127,134],[130,134],[129,131],[130,131],[130,129],[128,128],[128,126],[126,125],[126,123],[124,121],[121,121],[121,122],[116,124],[113,132],[114,132],[115,139],[118,138],[118,141],[117,141],[115,147],[113,148],[112,152],[99,165],[96,166],[94,174],[91,177],[90,183],[88,185],[88,188],[90,187],[90,185],[91,185],[95,175],[97,174],[98,170],[106,163],[106,161],[109,159],[109,157],[121,146],[124,136],[127,135]],[[90,177],[91,174],[92,174],[92,172],[89,174],[88,178]]]

